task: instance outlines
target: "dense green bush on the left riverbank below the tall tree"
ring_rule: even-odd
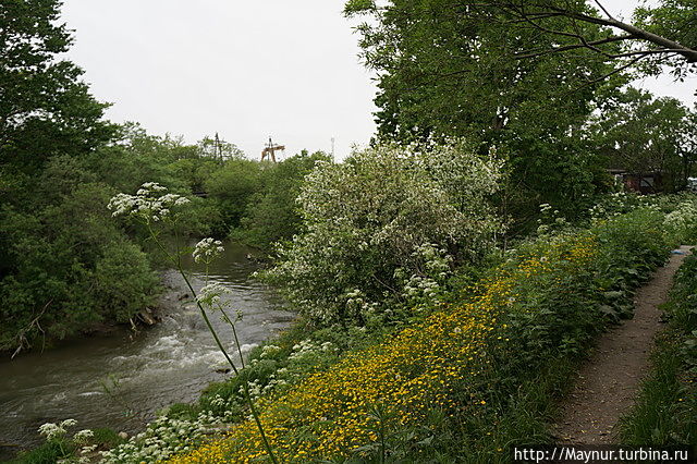
[[[0,211],[8,244],[0,278],[0,350],[127,320],[156,294],[147,258],[127,244],[107,210],[111,188],[68,184],[62,176],[51,182],[49,173],[34,209]]]

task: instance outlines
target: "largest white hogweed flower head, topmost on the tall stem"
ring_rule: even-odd
[[[191,200],[176,194],[168,194],[167,187],[157,182],[146,182],[135,195],[120,193],[109,200],[107,206],[113,210],[111,216],[131,216],[149,221],[161,221],[167,218],[172,207],[183,206]]]

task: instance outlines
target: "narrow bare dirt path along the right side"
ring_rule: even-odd
[[[690,247],[680,248],[685,254]],[[648,369],[653,337],[661,329],[661,312],[673,283],[673,274],[685,255],[670,261],[634,297],[634,318],[604,333],[596,352],[582,367],[576,387],[562,404],[557,425],[559,442],[612,443],[614,426],[632,406],[639,381]]]

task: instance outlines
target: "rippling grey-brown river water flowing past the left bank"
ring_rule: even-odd
[[[210,279],[223,283],[233,308],[243,313],[237,335],[243,352],[267,340],[293,320],[273,292],[254,281],[258,265],[248,249],[225,244],[210,268]],[[205,270],[184,261],[194,288],[204,285]],[[76,428],[111,427],[134,432],[143,420],[176,402],[192,402],[211,381],[224,380],[227,366],[184,282],[164,274],[168,292],[161,320],[138,333],[125,328],[108,335],[65,343],[44,353],[0,361],[0,460],[38,444],[37,428],[47,422],[77,420]],[[230,312],[234,315],[234,310]],[[218,316],[211,322],[233,352],[230,327]],[[118,387],[107,393],[102,382]]]

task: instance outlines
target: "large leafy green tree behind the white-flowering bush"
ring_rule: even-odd
[[[570,8],[590,13],[580,0]],[[567,36],[528,27],[511,11],[455,0],[392,0],[378,8],[350,1],[360,24],[366,64],[377,71],[379,138],[467,136],[508,154],[517,209],[533,212],[539,203],[576,208],[594,193],[592,157],[579,136],[602,93],[625,82],[601,54],[585,49],[514,57],[576,40],[601,40],[594,23],[545,20]],[[621,52],[617,44],[609,49]]]

